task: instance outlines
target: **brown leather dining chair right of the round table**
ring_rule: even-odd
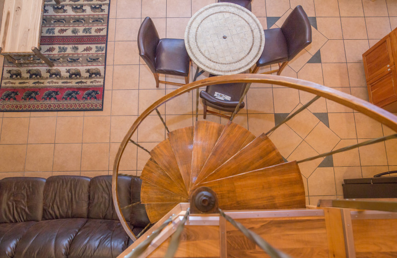
[[[281,28],[267,29],[264,32],[265,49],[252,73],[257,73],[262,66],[278,64],[278,69],[263,73],[277,72],[280,75],[288,62],[312,43],[312,26],[301,5],[292,10]]]

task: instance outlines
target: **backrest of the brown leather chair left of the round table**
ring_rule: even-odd
[[[139,56],[145,61],[150,70],[156,71],[156,49],[160,41],[152,19],[146,17],[138,31]]]

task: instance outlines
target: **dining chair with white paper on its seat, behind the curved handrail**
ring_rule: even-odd
[[[209,77],[216,76],[210,74]],[[211,110],[207,110],[207,107],[218,109],[225,112],[234,112],[241,95],[244,92],[245,83],[224,83],[224,84],[214,84],[208,85],[205,91],[200,91],[200,98],[202,99],[202,105],[204,106],[203,118],[205,119],[207,113],[214,114],[229,119],[230,117],[221,113],[217,113]],[[225,97],[230,97],[230,100],[221,100],[215,97],[215,94],[219,93],[225,95]],[[240,109],[244,108],[244,102],[241,102]]]

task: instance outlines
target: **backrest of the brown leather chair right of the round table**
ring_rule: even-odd
[[[312,43],[312,26],[301,5],[295,7],[281,26],[287,40],[288,61]]]

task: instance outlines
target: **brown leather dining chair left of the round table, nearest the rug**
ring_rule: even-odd
[[[159,83],[183,86],[183,83],[161,81],[159,73],[185,77],[189,83],[190,58],[183,39],[160,39],[152,19],[146,17],[138,31],[139,56],[153,72],[156,87]]]

